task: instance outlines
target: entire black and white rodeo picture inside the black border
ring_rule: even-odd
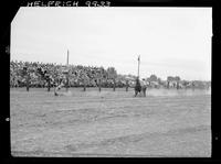
[[[28,157],[211,157],[212,8],[21,7],[10,149]]]

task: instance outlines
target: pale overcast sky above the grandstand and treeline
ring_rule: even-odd
[[[211,80],[211,8],[22,7],[11,61],[114,66],[118,74]]]

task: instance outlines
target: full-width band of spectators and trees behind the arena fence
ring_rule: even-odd
[[[10,62],[10,87],[51,87],[64,84],[69,87],[134,87],[136,76],[119,75],[114,67],[62,65],[39,62]],[[166,80],[156,75],[145,78],[149,88],[208,88],[211,81],[181,80],[168,76]]]

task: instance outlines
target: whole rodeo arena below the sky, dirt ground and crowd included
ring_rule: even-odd
[[[211,81],[10,62],[12,156],[211,156]],[[148,73],[147,73],[148,74]]]

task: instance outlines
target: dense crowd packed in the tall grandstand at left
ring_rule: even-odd
[[[10,62],[10,87],[24,87],[29,78],[30,87],[52,87],[66,84],[70,87],[96,87],[101,83],[102,87],[124,87],[126,79],[117,77],[115,68],[107,69],[95,66],[61,65],[39,62]]]

